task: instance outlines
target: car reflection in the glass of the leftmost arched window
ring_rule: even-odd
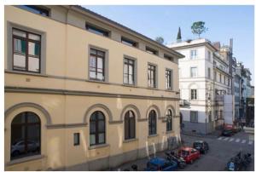
[[[39,144],[35,141],[27,141],[27,152],[36,152],[39,149]],[[11,146],[11,154],[13,157],[18,156],[25,152],[25,142],[24,140],[15,141]]]

